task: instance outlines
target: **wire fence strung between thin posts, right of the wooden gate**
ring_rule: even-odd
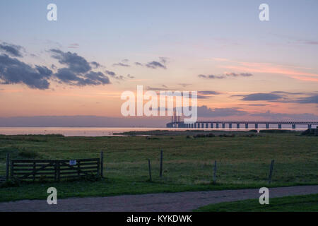
[[[164,154],[164,153],[163,153]],[[106,155],[107,156],[107,155]],[[163,182],[167,184],[297,184],[318,183],[318,162],[315,160],[303,160],[288,162],[275,160],[160,160],[158,157],[144,161],[110,162],[107,157],[104,162],[105,177],[127,179],[129,181]],[[215,167],[216,163],[216,167]],[[160,167],[162,166],[162,167]],[[151,170],[151,172],[149,172]],[[150,178],[151,174],[151,178]],[[0,160],[0,177],[6,176],[6,158]]]

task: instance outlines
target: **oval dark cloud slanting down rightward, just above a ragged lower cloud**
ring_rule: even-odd
[[[78,56],[76,53],[62,52],[59,49],[51,49],[52,57],[59,60],[59,64],[64,64],[73,73],[86,73],[92,68],[85,58]]]

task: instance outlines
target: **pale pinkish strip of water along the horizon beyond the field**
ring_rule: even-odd
[[[249,131],[249,129],[216,129],[204,128],[204,130],[224,130],[224,131]],[[263,129],[263,128],[259,128]],[[258,130],[259,130],[258,129]],[[276,126],[270,129],[277,129]],[[290,126],[283,127],[283,129],[290,129]],[[305,130],[306,126],[296,130]],[[152,131],[152,130],[169,130],[169,131],[184,131],[184,130],[203,130],[202,128],[189,129],[189,128],[146,128],[146,127],[0,127],[0,134],[4,135],[18,135],[18,134],[62,134],[64,136],[115,136],[113,133],[122,133],[128,131]]]

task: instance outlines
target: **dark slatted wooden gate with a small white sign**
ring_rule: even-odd
[[[10,177],[19,180],[76,179],[91,174],[100,177],[102,164],[99,158],[78,160],[11,160]]]

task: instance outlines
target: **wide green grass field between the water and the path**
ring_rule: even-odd
[[[222,133],[222,132],[219,132]],[[275,160],[271,186],[318,184],[318,138],[297,133],[235,133],[218,136],[63,137],[0,136],[0,175],[6,153],[12,159],[76,159],[105,156],[105,179],[98,182],[50,182],[0,189],[0,201],[46,198],[56,186],[59,198],[155,192],[259,188],[267,186],[269,165]],[[163,178],[159,177],[163,150]],[[153,182],[148,182],[148,159]],[[214,160],[217,184],[212,184]]]

